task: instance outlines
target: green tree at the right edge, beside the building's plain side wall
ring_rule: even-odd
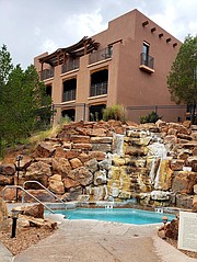
[[[188,35],[181,46],[167,76],[171,98],[177,104],[185,103],[190,111],[190,121],[195,122],[197,106],[197,36]]]

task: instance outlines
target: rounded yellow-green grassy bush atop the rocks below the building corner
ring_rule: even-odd
[[[116,104],[111,107],[104,109],[103,119],[104,121],[115,119],[125,123],[127,119],[127,112],[123,105]]]

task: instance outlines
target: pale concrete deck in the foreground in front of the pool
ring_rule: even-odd
[[[0,243],[0,262],[195,262],[157,236],[159,225],[63,220],[19,255]]]

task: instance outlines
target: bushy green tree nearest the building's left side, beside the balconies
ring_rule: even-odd
[[[51,99],[45,90],[34,66],[25,71],[20,66],[12,70],[4,89],[4,103],[9,106],[5,112],[5,140],[9,144],[28,137],[50,118]]]

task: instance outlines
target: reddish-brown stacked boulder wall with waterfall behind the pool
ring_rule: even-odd
[[[14,184],[14,166],[0,164],[0,185]],[[79,122],[37,146],[21,167],[19,184],[39,181],[67,201],[88,195],[90,201],[137,200],[196,210],[196,172],[197,126],[188,122]],[[26,189],[43,192],[32,183]],[[7,196],[15,197],[5,192]]]

